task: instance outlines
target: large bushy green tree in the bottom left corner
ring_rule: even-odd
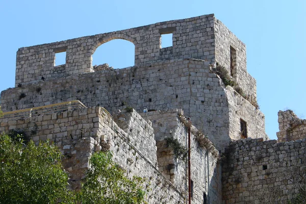
[[[19,135],[0,135],[0,203],[72,202],[61,158],[48,141],[25,145]]]

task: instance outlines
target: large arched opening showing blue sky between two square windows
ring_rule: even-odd
[[[135,64],[135,45],[127,40],[115,39],[101,44],[92,55],[94,70],[125,68]]]

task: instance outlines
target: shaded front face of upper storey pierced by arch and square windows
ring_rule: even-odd
[[[161,48],[161,34],[168,33],[173,34],[173,45]],[[135,66],[186,58],[215,62],[214,15],[209,14],[19,48],[15,86],[93,72],[92,54],[99,45],[113,39],[135,45]],[[55,55],[60,52],[66,52],[66,63],[55,66]]]

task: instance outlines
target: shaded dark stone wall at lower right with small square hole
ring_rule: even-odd
[[[223,159],[223,203],[287,203],[304,176],[305,147],[305,139],[232,142]]]

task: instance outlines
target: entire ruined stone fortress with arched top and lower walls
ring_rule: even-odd
[[[164,34],[172,46],[161,48]],[[135,45],[135,66],[92,65],[113,39]],[[213,14],[19,48],[1,106],[0,132],[55,142],[73,189],[93,152],[110,149],[150,182],[148,203],[186,203],[187,159],[167,141],[187,147],[189,132],[192,203],[262,203],[267,192],[286,203],[298,189],[284,173],[305,166],[305,120],[280,111],[278,141],[269,140],[245,44]]]

